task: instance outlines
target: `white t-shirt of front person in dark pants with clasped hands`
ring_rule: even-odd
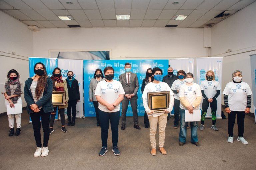
[[[118,99],[120,94],[125,94],[125,92],[119,81],[113,80],[112,82],[107,82],[104,80],[97,84],[94,95],[101,96],[102,99],[111,104]],[[99,109],[103,112],[117,112],[120,111],[120,104],[110,111],[106,106],[99,103]]]

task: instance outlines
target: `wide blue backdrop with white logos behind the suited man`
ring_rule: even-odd
[[[115,70],[114,79],[119,80],[119,75],[125,73],[124,64],[129,62],[132,65],[131,72],[136,73],[139,81],[138,90],[138,115],[144,115],[144,107],[142,102],[141,85],[142,80],[146,76],[146,70],[148,68],[159,67],[163,70],[163,75],[167,74],[168,60],[84,60],[84,116],[95,117],[95,110],[93,103],[89,101],[89,86],[90,80],[94,76],[94,72],[97,68],[100,68],[103,72],[104,68],[111,66]],[[121,114],[121,112],[120,112]],[[129,104],[127,110],[127,116],[132,116],[132,109]]]

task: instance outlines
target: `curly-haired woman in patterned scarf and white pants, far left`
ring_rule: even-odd
[[[11,69],[7,74],[7,81],[4,84],[4,89],[2,94],[5,97],[5,105],[11,108],[14,108],[14,104],[22,104],[21,94],[23,93],[23,85],[19,81],[19,73]],[[16,132],[14,134],[14,117],[16,118]],[[21,114],[11,114],[8,115],[9,121],[9,136],[18,136],[20,135],[21,128]]]

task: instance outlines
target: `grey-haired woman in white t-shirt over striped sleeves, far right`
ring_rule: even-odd
[[[229,82],[223,91],[225,111],[228,113],[228,142],[233,143],[233,128],[237,115],[237,141],[248,144],[244,139],[244,117],[250,112],[252,91],[247,83],[242,82],[242,71],[234,71],[232,77],[233,81]]]

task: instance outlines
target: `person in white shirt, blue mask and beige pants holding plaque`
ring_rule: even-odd
[[[165,140],[165,127],[167,123],[167,113],[170,113],[173,108],[173,103],[174,103],[174,93],[172,92],[171,88],[169,85],[165,82],[161,82],[163,71],[155,67],[153,68],[152,71],[152,76],[154,77],[154,81],[148,83],[145,86],[145,89],[142,94],[142,99],[143,99],[143,106],[145,108],[146,113],[148,114],[148,119],[149,119],[149,139],[151,143],[151,155],[156,155],[156,130],[157,130],[157,124],[158,124],[158,130],[159,130],[159,151],[163,154],[166,155],[167,152],[164,149],[164,140]],[[148,107],[148,97],[147,93],[148,92],[161,92],[161,91],[170,91],[170,103],[169,107],[164,111],[160,113],[154,113],[154,111],[151,111]]]

